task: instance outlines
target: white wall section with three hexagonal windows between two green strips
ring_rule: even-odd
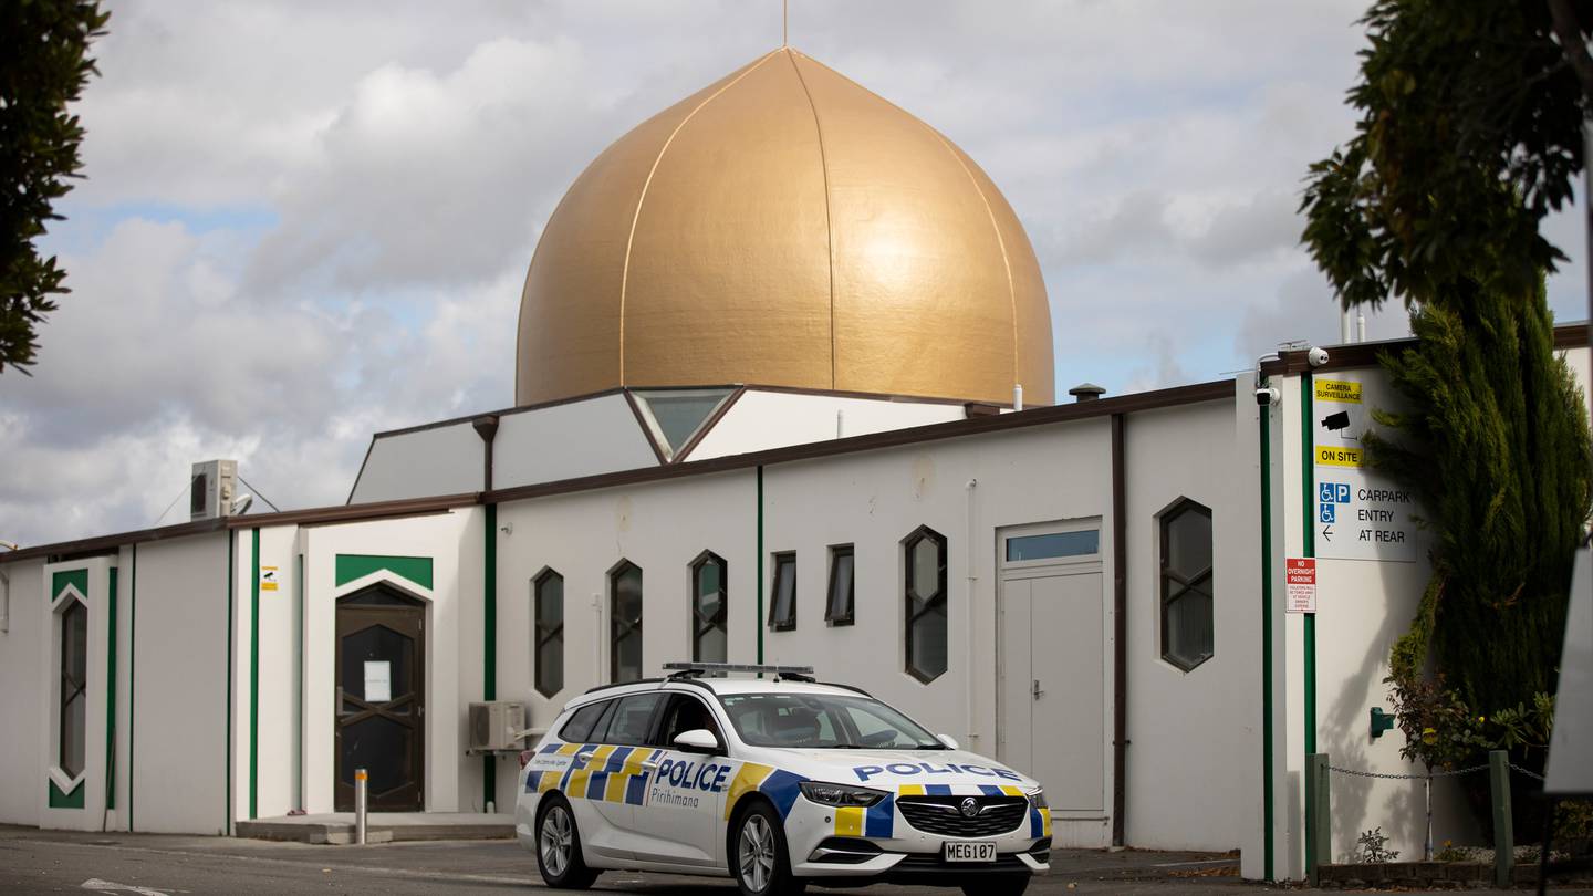
[[[726,564],[730,662],[757,660],[755,470],[518,501],[500,505],[497,521],[497,690],[526,701],[532,727],[609,681],[609,571],[621,560],[642,568],[647,674],[691,658],[690,563],[704,550]],[[553,698],[532,681],[530,590],[546,568],[564,576],[564,689]],[[511,805],[513,784],[499,773],[499,805]]]

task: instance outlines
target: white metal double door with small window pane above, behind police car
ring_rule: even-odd
[[[1069,536],[1042,542],[1037,537]],[[1086,536],[1086,537],[1072,537]],[[1015,552],[1008,539],[1031,545]],[[1099,525],[1002,531],[997,754],[1045,786],[1053,816],[1106,812]]]

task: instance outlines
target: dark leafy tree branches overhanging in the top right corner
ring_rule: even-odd
[[[1489,252],[1528,295],[1564,258],[1537,226],[1583,164],[1593,2],[1376,0],[1364,24],[1356,136],[1311,166],[1301,202],[1317,266],[1344,308],[1376,308],[1442,297]]]

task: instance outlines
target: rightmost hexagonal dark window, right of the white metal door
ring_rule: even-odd
[[[1161,658],[1184,671],[1212,657],[1211,509],[1180,499],[1161,515]]]

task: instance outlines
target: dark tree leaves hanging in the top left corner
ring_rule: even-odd
[[[67,104],[89,75],[89,41],[108,13],[99,0],[8,0],[0,6],[0,373],[24,370],[38,349],[37,327],[68,292],[54,257],[35,241],[72,190],[83,126]]]

